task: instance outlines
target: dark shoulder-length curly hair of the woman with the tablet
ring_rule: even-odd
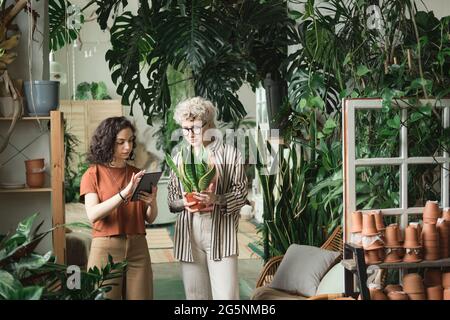
[[[136,128],[125,117],[111,117],[103,120],[95,129],[94,135],[89,146],[87,160],[91,164],[110,163],[114,157],[114,146],[116,144],[117,134],[123,130],[130,128],[133,136],[136,134]],[[130,160],[134,159],[134,148],[136,142],[133,141],[133,148],[130,153]]]

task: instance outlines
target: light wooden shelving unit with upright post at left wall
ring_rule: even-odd
[[[0,121],[11,121],[12,118],[0,118]],[[65,224],[64,200],[64,125],[61,111],[50,111],[50,116],[22,117],[19,121],[50,121],[50,175],[51,185],[46,188],[0,189],[0,193],[51,193],[52,226]],[[66,262],[65,228],[53,231],[53,253],[58,263]]]

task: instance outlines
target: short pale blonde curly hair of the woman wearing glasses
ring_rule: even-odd
[[[202,97],[186,99],[175,107],[174,119],[179,125],[186,120],[202,120],[215,127],[215,118],[216,108],[213,103]]]

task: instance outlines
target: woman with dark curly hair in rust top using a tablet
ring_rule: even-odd
[[[129,201],[145,170],[127,164],[133,158],[135,128],[125,117],[103,120],[91,140],[91,166],[81,179],[80,200],[93,223],[88,268],[101,268],[108,254],[115,262],[127,260],[123,279],[111,281],[109,299],[153,298],[153,274],[145,239],[145,222],[158,214],[157,188],[142,192],[139,201]],[[125,285],[126,284],[126,285]]]

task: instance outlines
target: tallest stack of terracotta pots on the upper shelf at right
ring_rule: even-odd
[[[436,228],[441,210],[437,201],[427,201],[423,210],[422,243],[424,247],[424,260],[439,260],[439,233]],[[448,239],[448,234],[447,234]],[[448,245],[447,245],[448,251]]]

